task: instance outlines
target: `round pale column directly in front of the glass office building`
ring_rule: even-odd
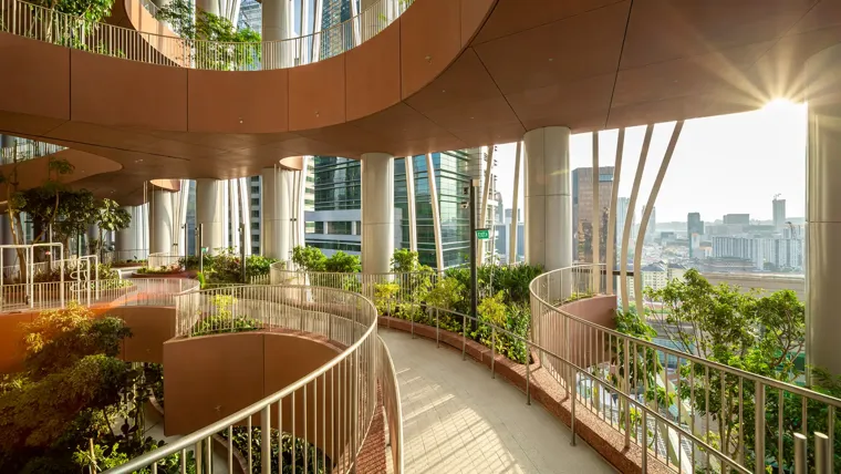
[[[362,271],[391,270],[394,254],[394,156],[362,155]]]

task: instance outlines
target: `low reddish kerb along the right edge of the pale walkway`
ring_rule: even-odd
[[[412,332],[412,323],[404,319],[396,319],[381,316],[380,327],[387,327],[404,332]],[[432,326],[415,323],[414,334],[436,340],[436,328]],[[490,368],[491,351],[489,348],[467,339],[461,338],[460,333],[446,331],[438,332],[438,341],[443,347],[461,351],[463,344],[465,353],[470,356],[477,362]],[[531,379],[529,392],[531,400],[540,403],[549,413],[570,426],[572,415],[570,412],[570,399],[565,390],[546,371],[539,363],[537,357],[532,357],[534,362],[531,364]],[[496,354],[494,358],[495,372],[508,381],[513,387],[526,393],[526,365],[511,361],[505,356]],[[525,398],[525,396],[523,396]],[[611,427],[599,416],[586,409],[575,411],[575,434],[586,442],[602,457],[622,473],[642,473],[642,450],[634,444],[631,447],[624,447],[624,435]],[[648,473],[668,473],[671,472],[665,465],[648,456]]]

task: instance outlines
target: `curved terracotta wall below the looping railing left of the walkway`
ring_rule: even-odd
[[[279,333],[240,332],[170,340],[164,344],[166,434],[187,434],[218,421],[303,378],[335,356],[336,349],[320,341]],[[322,435],[315,440],[314,393],[332,393],[334,383],[339,387],[338,379],[308,387],[308,439],[325,449],[328,455],[332,452],[331,430],[328,425],[328,435],[323,436],[322,423],[330,418],[334,404],[331,396],[325,399],[328,418],[319,418]],[[304,431],[303,406],[303,396],[299,393],[295,399],[298,436]],[[318,410],[321,412],[321,405]],[[278,424],[277,413],[273,406],[273,426]],[[291,421],[292,400],[289,398],[283,404],[284,431],[292,431]],[[252,423],[259,425],[260,418],[253,416]]]

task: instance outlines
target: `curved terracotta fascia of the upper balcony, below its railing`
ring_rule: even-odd
[[[0,59],[35,64],[0,75],[0,86],[21,92],[0,96],[0,110],[35,115],[37,122],[59,118],[207,133],[302,132],[319,140],[331,133],[324,127],[381,112],[429,84],[460,54],[494,3],[418,0],[345,54],[288,70],[240,73],[125,61],[0,33]],[[126,8],[136,28],[160,31],[137,0],[127,0]],[[50,130],[48,124],[33,125],[40,133]]]

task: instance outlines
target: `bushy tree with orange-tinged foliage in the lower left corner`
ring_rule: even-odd
[[[115,357],[121,319],[70,305],[23,332],[24,370],[0,382],[0,472],[104,468],[162,444],[144,436],[142,371]]]

